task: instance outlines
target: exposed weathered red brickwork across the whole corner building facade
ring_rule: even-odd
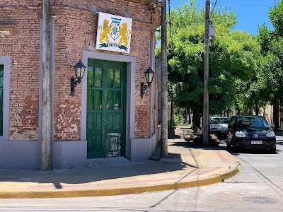
[[[135,136],[148,136],[149,90],[140,98],[140,82],[145,82],[144,71],[149,68],[149,37],[151,11],[148,1],[51,1],[54,19],[54,139],[80,139],[81,86],[75,98],[69,95],[72,66],[81,59],[81,50],[88,49],[87,38],[95,42],[98,14],[93,11],[130,16],[132,44],[129,55],[137,57]],[[0,37],[0,56],[11,47],[11,139],[36,140],[38,133],[39,42],[42,1],[0,2],[1,24],[15,25],[11,35]],[[5,7],[5,8],[4,8]],[[94,35],[94,36],[93,36]],[[96,49],[93,49],[97,51]],[[100,51],[102,52],[102,51]],[[113,54],[122,54],[115,53]],[[28,72],[24,74],[25,71]],[[155,112],[154,112],[155,114]]]

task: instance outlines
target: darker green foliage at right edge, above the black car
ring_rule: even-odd
[[[236,109],[248,112],[255,105],[264,107],[283,101],[283,1],[279,1],[269,11],[274,30],[263,23],[258,28],[255,39],[260,45],[260,57],[255,76],[250,81],[238,81]]]

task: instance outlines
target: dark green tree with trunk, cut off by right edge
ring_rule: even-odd
[[[262,59],[260,60],[259,90],[262,101],[274,105],[275,127],[279,127],[279,105],[283,102],[283,1],[270,8],[269,17],[274,30],[263,24],[258,29]]]

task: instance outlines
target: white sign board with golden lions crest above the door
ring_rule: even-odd
[[[96,49],[129,53],[132,18],[99,13]]]

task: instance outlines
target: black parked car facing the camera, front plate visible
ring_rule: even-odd
[[[262,116],[239,115],[230,119],[227,133],[227,148],[267,149],[276,152],[275,133]]]

